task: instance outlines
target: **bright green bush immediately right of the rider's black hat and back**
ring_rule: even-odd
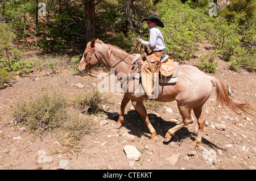
[[[208,19],[200,9],[191,9],[179,1],[163,1],[159,17],[164,23],[161,32],[166,49],[178,61],[189,59],[197,50],[197,43],[208,35]]]

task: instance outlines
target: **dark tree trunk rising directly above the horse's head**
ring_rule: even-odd
[[[94,0],[83,0],[85,12],[86,43],[96,38],[95,5]]]

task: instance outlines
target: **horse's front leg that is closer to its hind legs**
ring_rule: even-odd
[[[148,119],[147,111],[143,105],[143,102],[142,101],[136,102],[135,100],[132,100],[131,104],[133,104],[133,107],[135,108],[135,110],[137,110],[139,112],[144,123],[146,123],[147,128],[149,129],[149,131],[151,133],[151,139],[157,140],[155,129],[153,128],[152,124],[150,123],[150,120]]]

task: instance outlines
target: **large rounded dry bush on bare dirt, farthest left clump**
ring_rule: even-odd
[[[67,119],[66,100],[56,91],[22,100],[13,107],[16,121],[24,123],[31,131],[42,133],[59,127]]]

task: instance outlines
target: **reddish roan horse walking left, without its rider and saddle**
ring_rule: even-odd
[[[115,74],[125,73],[127,75],[131,70],[131,63],[134,56],[135,54],[128,54],[118,47],[105,44],[98,39],[93,39],[87,44],[79,64],[79,71],[80,73],[87,72],[101,61],[108,68],[113,68],[114,66]],[[120,61],[123,57],[126,58]],[[196,146],[201,142],[205,124],[202,107],[212,92],[212,83],[216,87],[218,104],[226,106],[238,114],[240,114],[241,111],[247,112],[247,109],[250,109],[250,104],[240,104],[230,99],[228,92],[225,90],[225,86],[219,79],[210,77],[193,66],[181,65],[179,67],[177,82],[174,85],[160,83],[159,96],[155,99],[159,102],[172,102],[176,100],[177,107],[183,119],[182,123],[168,130],[164,142],[170,141],[174,133],[180,128],[193,123],[191,110],[195,113],[199,125],[196,140],[192,142],[192,145]],[[135,87],[134,90],[136,90],[136,88],[137,87]],[[135,96],[134,92],[131,91],[125,92],[121,103],[121,113],[115,126],[117,128],[121,127],[124,121],[125,107],[131,100],[135,110],[139,112],[144,123],[146,123],[151,133],[151,138],[156,140],[156,132],[148,119],[146,108],[143,105],[143,97],[147,98],[147,96],[144,95],[138,98],[138,96]]]

